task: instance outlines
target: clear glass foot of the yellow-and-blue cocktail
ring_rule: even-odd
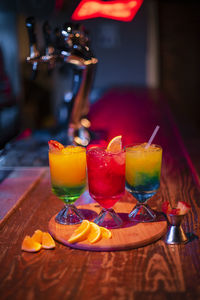
[[[128,216],[135,222],[153,222],[156,218],[155,212],[147,204],[141,203],[137,203]]]

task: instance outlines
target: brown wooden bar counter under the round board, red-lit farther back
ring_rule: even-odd
[[[109,99],[112,93],[115,91],[108,94]],[[54,250],[35,254],[22,252],[24,236],[36,229],[48,230],[48,221],[62,203],[51,192],[47,167],[7,168],[4,169],[7,177],[0,184],[1,300],[200,299],[199,175],[165,103],[146,92],[120,93],[116,92],[113,115],[121,122],[119,133],[128,136],[126,142],[131,134],[135,134],[134,140],[144,141],[154,125],[161,126],[155,140],[164,149],[161,188],[150,205],[160,210],[165,200],[190,203],[192,209],[183,223],[190,242],[166,245],[161,239],[142,248],[116,252],[81,251],[56,242]],[[123,100],[130,120],[126,124],[116,111],[117,105],[121,105],[120,97],[128,99]],[[103,98],[106,123],[109,113],[104,102]],[[96,123],[93,119],[96,129],[100,127],[101,103],[93,108],[96,109]],[[122,107],[118,109],[124,118]],[[115,134],[115,124],[111,119],[110,135]],[[79,203],[90,201],[86,191]],[[122,201],[131,202],[132,197],[126,193]]]

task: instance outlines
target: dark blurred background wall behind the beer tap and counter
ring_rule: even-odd
[[[72,91],[72,71],[39,64],[32,80],[25,20],[34,16],[39,50],[42,26],[71,22],[79,0],[0,1],[0,149],[20,136],[64,122],[63,101]],[[106,1],[104,1],[106,2]],[[111,87],[159,89],[183,136],[198,139],[200,128],[200,4],[198,1],[144,0],[134,19],[82,20],[98,67],[90,93],[95,103]]]

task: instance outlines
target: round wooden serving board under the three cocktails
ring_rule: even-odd
[[[100,206],[96,203],[78,206],[78,208],[81,209],[85,218],[90,221],[101,210]],[[55,216],[49,221],[49,232],[55,240],[66,246],[89,251],[115,251],[138,248],[157,241],[166,233],[166,220],[151,223],[130,222],[128,213],[133,209],[133,204],[131,203],[118,202],[115,204],[114,209],[122,218],[123,225],[120,228],[111,229],[111,239],[103,238],[95,244],[90,244],[87,240],[70,244],[68,243],[68,239],[80,224],[61,225],[55,221]]]

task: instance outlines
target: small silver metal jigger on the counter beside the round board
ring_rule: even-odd
[[[167,231],[165,242],[167,244],[185,244],[188,238],[181,226],[185,215],[167,215],[170,227]]]

